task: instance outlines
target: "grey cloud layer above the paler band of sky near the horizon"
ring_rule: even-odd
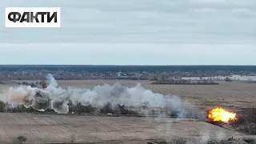
[[[60,6],[60,29],[6,29],[0,42],[254,42],[254,0],[9,0],[3,6]],[[4,14],[4,13],[2,13]],[[0,17],[2,18],[2,17]]]

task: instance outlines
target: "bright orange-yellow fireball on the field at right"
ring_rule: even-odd
[[[212,122],[230,122],[236,120],[236,114],[216,107],[207,111],[207,118]]]

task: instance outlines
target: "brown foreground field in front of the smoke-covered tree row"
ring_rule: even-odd
[[[11,142],[19,135],[25,136],[27,143],[74,140],[140,144],[152,142],[156,138],[168,141],[182,138],[199,143],[204,137],[246,136],[192,119],[8,113],[0,114],[0,130],[1,143]]]

